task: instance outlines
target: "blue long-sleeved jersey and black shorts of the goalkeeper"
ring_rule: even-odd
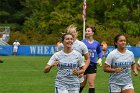
[[[90,55],[90,65],[85,71],[85,75],[96,73],[97,69],[96,55],[98,55],[98,58],[102,58],[102,49],[100,47],[100,43],[96,40],[94,40],[93,43],[89,43],[86,39],[83,39],[82,42],[87,46]]]

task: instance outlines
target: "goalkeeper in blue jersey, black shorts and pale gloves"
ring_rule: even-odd
[[[95,27],[86,27],[86,32],[85,32],[85,39],[82,40],[84,44],[88,48],[88,52],[90,55],[90,65],[86,69],[84,75],[85,75],[85,81],[81,85],[81,90],[85,87],[86,81],[88,81],[88,87],[89,87],[89,92],[88,93],[95,93],[95,86],[94,86],[94,81],[96,78],[96,69],[97,69],[97,63],[99,65],[102,65],[102,49],[100,47],[100,43],[96,41],[93,38],[93,35],[95,34],[96,29]],[[98,61],[96,61],[96,55],[98,56]]]

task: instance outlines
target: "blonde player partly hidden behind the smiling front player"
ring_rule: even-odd
[[[89,53],[88,53],[88,49],[87,49],[86,45],[77,39],[78,32],[77,32],[76,28],[77,27],[73,24],[68,26],[67,33],[72,34],[74,37],[74,42],[73,42],[72,48],[84,56],[84,58],[85,58],[84,69],[86,70],[90,63],[90,57],[89,57]],[[58,51],[63,50],[63,48],[64,48],[64,45],[62,43],[60,43],[58,46]]]

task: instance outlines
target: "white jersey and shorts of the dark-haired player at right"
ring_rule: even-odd
[[[126,50],[125,53],[120,53],[117,49],[110,52],[105,63],[111,68],[123,68],[120,73],[111,73],[109,84],[110,92],[121,92],[122,90],[132,88],[131,65],[134,64],[134,55],[131,51]]]

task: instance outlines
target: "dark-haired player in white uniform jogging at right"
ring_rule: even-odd
[[[126,49],[126,38],[122,34],[114,38],[116,49],[111,51],[105,61],[104,71],[111,73],[109,78],[110,93],[135,93],[131,78],[131,69],[138,75],[134,54]]]

